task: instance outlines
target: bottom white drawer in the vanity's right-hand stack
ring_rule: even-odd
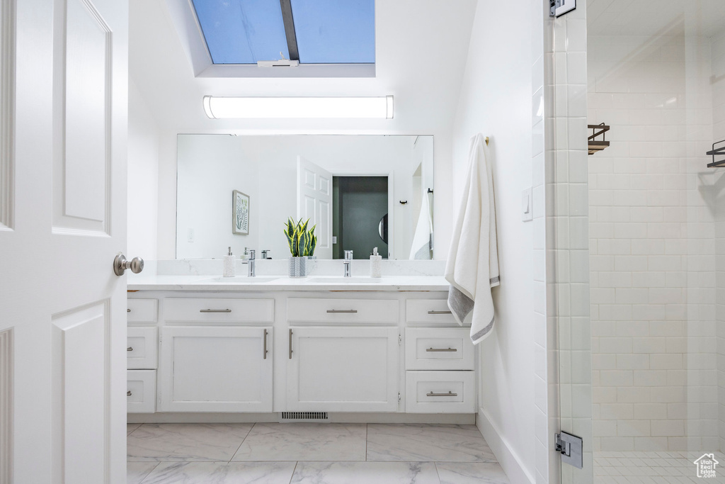
[[[405,411],[471,414],[476,411],[476,372],[405,372]]]

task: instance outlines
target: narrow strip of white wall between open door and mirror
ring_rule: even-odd
[[[159,127],[136,83],[129,79],[128,258],[157,258],[158,182]]]

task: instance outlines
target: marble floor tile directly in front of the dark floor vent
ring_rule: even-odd
[[[365,424],[254,424],[233,461],[364,461]]]

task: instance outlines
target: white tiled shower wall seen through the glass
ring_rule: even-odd
[[[711,39],[682,27],[589,37],[595,451],[719,448]]]

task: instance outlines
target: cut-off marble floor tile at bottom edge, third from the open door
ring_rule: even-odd
[[[298,462],[293,484],[439,484],[433,462]]]

